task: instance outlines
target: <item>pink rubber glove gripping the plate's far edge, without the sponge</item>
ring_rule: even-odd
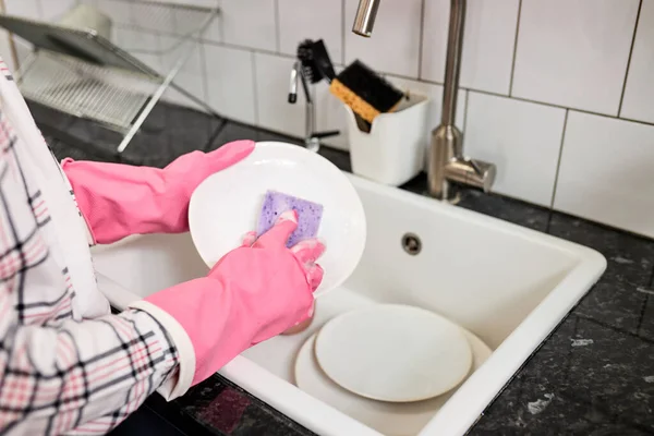
[[[130,234],[187,231],[195,187],[245,158],[254,145],[237,141],[211,153],[189,153],[164,169],[70,158],[61,166],[94,240],[109,244]]]

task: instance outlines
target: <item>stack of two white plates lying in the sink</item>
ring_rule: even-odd
[[[380,304],[327,323],[295,361],[300,389],[386,435],[415,435],[491,355],[433,312]]]

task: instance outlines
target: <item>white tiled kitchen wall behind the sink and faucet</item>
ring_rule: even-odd
[[[96,2],[119,27],[152,34],[128,34],[132,45],[161,48],[171,26],[137,0],[4,1],[36,19]],[[384,0],[370,39],[350,32],[358,0],[157,1],[221,8],[177,82],[228,117],[302,136],[303,97],[287,102],[289,72],[296,45],[323,38],[337,70],[363,60],[433,98],[429,129],[438,122],[450,0]],[[654,0],[468,0],[457,124],[467,155],[497,164],[497,192],[549,206],[558,186],[556,208],[654,237],[653,29]],[[0,40],[0,53],[8,50]],[[317,128],[343,130],[326,84],[316,101]],[[327,143],[348,148],[346,134]]]

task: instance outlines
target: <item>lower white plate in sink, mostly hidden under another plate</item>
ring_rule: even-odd
[[[472,348],[474,373],[493,351],[480,338],[463,330]],[[417,402],[384,402],[370,400],[341,388],[320,370],[314,347],[317,334],[304,342],[295,360],[295,384],[306,393],[346,413],[371,428],[389,436],[416,435],[450,399],[456,389],[439,397]]]

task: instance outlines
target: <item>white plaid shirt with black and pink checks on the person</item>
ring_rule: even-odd
[[[73,316],[84,290],[48,243],[25,146],[0,112],[0,435],[105,434],[177,377],[178,351],[145,312]]]

